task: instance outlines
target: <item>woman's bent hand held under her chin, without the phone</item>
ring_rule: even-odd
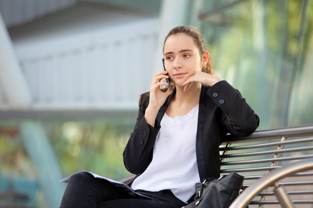
[[[183,91],[184,92],[188,91],[195,82],[199,82],[203,85],[207,85],[211,87],[215,83],[221,80],[222,79],[217,76],[214,76],[205,72],[197,71],[195,72],[193,76],[189,77],[184,83],[182,83],[182,86],[184,86]]]

